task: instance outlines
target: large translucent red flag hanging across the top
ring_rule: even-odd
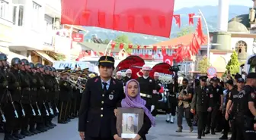
[[[174,0],[62,0],[62,24],[169,37]]]

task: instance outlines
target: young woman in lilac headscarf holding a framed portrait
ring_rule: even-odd
[[[143,100],[140,95],[139,82],[135,79],[130,79],[126,82],[125,86],[125,94],[126,98],[121,101],[120,107],[130,107],[130,108],[142,108],[144,110],[144,120],[142,128],[139,129],[137,135],[132,140],[146,140],[146,134],[149,132],[151,126],[155,126],[155,119],[152,117],[150,110],[145,106],[146,101]],[[117,116],[117,110],[115,110],[115,114]],[[120,135],[114,135],[115,140],[122,140]]]

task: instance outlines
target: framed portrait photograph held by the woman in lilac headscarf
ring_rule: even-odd
[[[124,140],[135,138],[142,128],[144,110],[139,108],[117,108],[117,132]]]

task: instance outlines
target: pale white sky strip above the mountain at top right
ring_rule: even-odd
[[[226,0],[225,0],[226,1]],[[181,8],[190,8],[194,6],[205,6],[205,5],[218,5],[219,0],[175,0],[174,10]],[[245,5],[248,7],[253,6],[252,0],[229,0],[229,5]]]

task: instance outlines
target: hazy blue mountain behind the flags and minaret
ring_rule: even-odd
[[[202,11],[204,17],[206,18],[206,22],[208,24],[208,28],[210,32],[215,31],[217,28],[218,22],[218,6],[196,6],[193,8],[181,8],[178,11],[174,11],[174,14],[181,14],[181,28],[176,26],[175,20],[173,19],[172,27],[171,27],[171,38],[175,38],[177,33],[179,33],[182,27],[189,26],[188,24],[188,14],[195,13],[198,14],[198,9]],[[230,5],[229,6],[229,19],[236,17],[240,14],[248,14],[249,7],[240,6],[240,5]],[[194,18],[194,28],[197,26],[197,18]],[[106,30],[98,27],[85,26],[85,29],[89,31],[89,33],[85,36],[85,39],[91,39],[92,36],[96,35],[99,39],[116,39],[117,36],[125,34],[129,37],[130,41],[133,44],[139,45],[151,45],[156,42],[162,42],[168,40],[168,38],[158,37],[158,36],[149,36],[139,33],[124,33],[120,31],[114,30]],[[203,30],[206,33],[206,28],[203,23]]]

